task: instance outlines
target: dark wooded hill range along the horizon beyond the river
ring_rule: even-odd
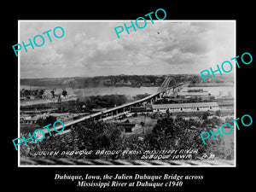
[[[21,85],[30,85],[47,88],[89,88],[109,86],[130,87],[159,87],[166,76],[172,76],[177,83],[189,81],[191,84],[204,84],[200,75],[195,74],[172,74],[172,75],[110,75],[96,77],[73,77],[73,78],[43,78],[43,79],[20,79]],[[207,79],[208,80],[208,79]],[[216,79],[209,79],[207,84],[234,84],[232,75],[224,74]],[[204,84],[204,85],[207,85]]]

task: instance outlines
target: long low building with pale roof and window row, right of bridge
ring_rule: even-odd
[[[166,113],[168,109],[170,113],[175,112],[197,112],[197,111],[217,111],[219,106],[217,102],[189,102],[174,104],[153,104],[153,112]]]

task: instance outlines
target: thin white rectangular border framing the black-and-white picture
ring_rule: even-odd
[[[20,22],[126,22],[131,20],[18,20],[18,44],[20,44]],[[138,20],[139,22],[142,20]],[[234,57],[236,56],[236,20],[154,20],[154,22],[235,22],[235,45]],[[236,65],[235,65],[236,66]],[[236,67],[234,71],[234,99],[235,99],[235,119],[236,119]],[[20,137],[20,54],[18,54],[18,137]],[[20,165],[20,145],[18,146],[18,167],[236,167],[236,129],[234,129],[234,165],[230,166],[108,166],[108,165],[94,165],[94,166],[24,166]],[[203,162],[203,161],[202,161]]]

